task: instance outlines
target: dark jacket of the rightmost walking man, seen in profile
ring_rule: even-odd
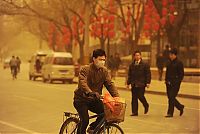
[[[166,82],[181,82],[184,77],[183,63],[177,58],[169,61],[166,69]]]

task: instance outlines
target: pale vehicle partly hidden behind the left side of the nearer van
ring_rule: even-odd
[[[36,69],[36,60],[39,59],[41,62],[41,67],[43,66],[44,59],[49,52],[46,51],[37,51],[33,54],[30,59],[29,64],[29,80],[35,80],[38,77],[42,77],[41,69]]]

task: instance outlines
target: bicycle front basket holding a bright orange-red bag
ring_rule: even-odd
[[[105,119],[108,122],[123,122],[126,111],[126,103],[111,101],[104,103]]]

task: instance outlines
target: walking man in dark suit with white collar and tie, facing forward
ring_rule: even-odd
[[[149,104],[144,96],[145,87],[149,88],[151,82],[151,71],[148,64],[142,61],[140,51],[135,51],[134,61],[129,66],[127,87],[131,84],[132,92],[132,114],[138,116],[138,99],[144,106],[144,114],[149,110]]]

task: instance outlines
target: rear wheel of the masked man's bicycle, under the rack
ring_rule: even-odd
[[[79,120],[77,118],[68,118],[60,128],[59,134],[76,134]]]

